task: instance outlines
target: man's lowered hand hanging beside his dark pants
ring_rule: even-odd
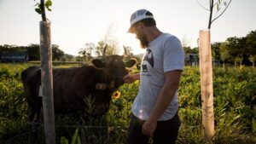
[[[147,120],[143,124],[143,134],[146,136],[154,136],[154,130],[156,129],[157,121]]]

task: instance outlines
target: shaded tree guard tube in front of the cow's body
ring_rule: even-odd
[[[50,22],[48,21],[40,21],[40,48],[45,143],[55,144],[52,48],[50,37]]]

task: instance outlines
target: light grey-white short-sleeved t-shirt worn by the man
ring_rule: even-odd
[[[149,43],[140,72],[140,85],[137,97],[131,107],[131,112],[137,118],[147,120],[153,111],[154,104],[165,84],[164,72],[183,70],[184,52],[177,37],[162,33]],[[177,112],[177,91],[166,111],[158,119],[171,119]]]

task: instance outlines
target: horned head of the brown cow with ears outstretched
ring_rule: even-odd
[[[118,88],[120,85],[124,84],[123,78],[128,74],[126,67],[136,65],[137,60],[130,59],[124,61],[125,55],[105,55],[106,49],[107,46],[103,50],[102,58],[92,60],[92,64],[96,66],[96,68],[106,70],[108,79],[112,79],[114,88]]]

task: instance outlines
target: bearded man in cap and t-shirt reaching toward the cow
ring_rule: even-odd
[[[125,83],[140,80],[137,97],[131,107],[128,141],[146,144],[171,144],[177,140],[177,88],[183,71],[183,48],[177,37],[160,32],[154,16],[146,9],[131,14],[128,32],[136,34],[143,55],[141,72],[127,75]]]

